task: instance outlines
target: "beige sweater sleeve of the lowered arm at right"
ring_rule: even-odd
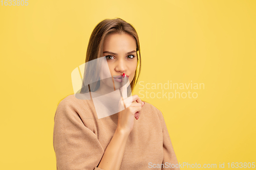
[[[174,152],[172,141],[170,141],[170,136],[163,118],[163,114],[160,110],[159,110],[159,119],[163,129],[163,162],[162,163],[165,165],[165,162],[168,162],[168,166],[169,166],[169,167],[162,167],[162,169],[180,169],[178,166],[179,163]]]

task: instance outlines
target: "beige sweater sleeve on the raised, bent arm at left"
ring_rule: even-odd
[[[101,169],[97,166],[104,150],[97,135],[83,124],[75,106],[69,100],[62,100],[57,107],[53,147],[57,170]]]

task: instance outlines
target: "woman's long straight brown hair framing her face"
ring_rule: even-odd
[[[122,34],[122,33],[127,33],[134,37],[136,41],[136,54],[138,56],[137,68],[135,70],[134,79],[130,83],[131,91],[127,91],[129,96],[138,82],[140,71],[141,71],[141,55],[140,55],[139,37],[135,28],[131,25],[131,23],[128,23],[121,18],[104,19],[101,22],[99,22],[98,25],[94,28],[88,43],[86,63],[91,60],[103,57],[103,42],[106,36],[110,34]],[[94,79],[94,80],[85,80],[85,82],[92,81],[95,83],[92,83],[89,86],[83,84],[80,93],[96,91],[99,88],[100,86],[99,71],[92,71],[92,70],[99,70],[99,69],[95,69],[96,67],[98,68],[98,65],[96,65],[96,62],[95,62],[95,65],[91,64],[90,66],[84,69],[84,79]]]

